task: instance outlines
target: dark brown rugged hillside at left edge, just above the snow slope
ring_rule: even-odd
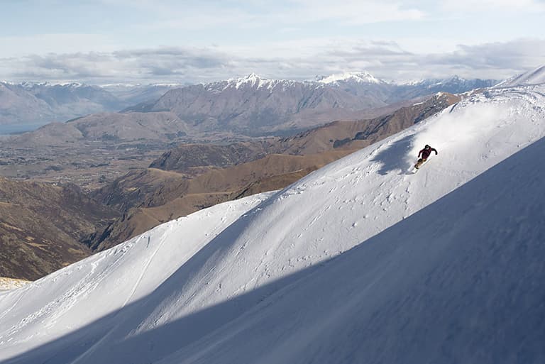
[[[74,185],[0,177],[0,276],[35,280],[87,257],[81,242],[114,217]]]

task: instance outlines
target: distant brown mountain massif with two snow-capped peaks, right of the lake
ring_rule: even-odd
[[[453,77],[397,85],[375,79],[368,73],[295,82],[251,74],[172,89],[156,101],[125,111],[168,111],[185,121],[189,134],[195,136],[218,131],[245,136],[280,135],[334,120],[372,118],[378,115],[365,114],[366,111],[434,94],[437,90],[466,92],[495,83],[494,80],[468,81]]]

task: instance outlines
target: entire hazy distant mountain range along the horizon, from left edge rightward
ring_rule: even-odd
[[[320,76],[306,82],[251,74],[189,86],[0,82],[0,125],[41,125],[119,110],[125,114],[169,111],[187,123],[193,134],[221,131],[256,136],[361,118],[365,110],[398,101],[435,92],[456,94],[493,84],[497,81],[460,77],[395,84],[367,72]],[[180,131],[175,129],[175,133]]]

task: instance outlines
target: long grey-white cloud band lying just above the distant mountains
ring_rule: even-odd
[[[155,48],[48,53],[0,58],[0,79],[58,82],[211,82],[256,72],[314,79],[344,71],[408,81],[458,75],[505,79],[545,64],[544,39],[458,45],[447,53],[413,53],[387,40],[314,39],[253,47]]]

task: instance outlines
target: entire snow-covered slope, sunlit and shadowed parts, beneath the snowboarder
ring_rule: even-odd
[[[544,94],[491,89],[0,293],[0,360],[542,363]]]

